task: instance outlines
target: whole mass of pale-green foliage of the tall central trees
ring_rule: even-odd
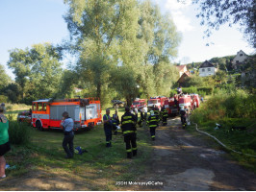
[[[170,59],[180,42],[168,15],[150,1],[65,3],[72,48],[79,53],[77,75],[90,83],[92,95],[105,100],[112,89],[130,103],[138,96],[138,87],[147,97],[167,92],[176,78]]]

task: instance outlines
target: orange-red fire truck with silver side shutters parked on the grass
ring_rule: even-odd
[[[32,105],[32,125],[39,130],[63,129],[62,114],[67,111],[74,120],[74,130],[91,129],[101,123],[100,101],[86,99],[44,99]]]

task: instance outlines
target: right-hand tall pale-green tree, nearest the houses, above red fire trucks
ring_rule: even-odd
[[[170,60],[177,56],[181,36],[170,15],[163,15],[159,7],[150,1],[141,3],[139,23],[141,30],[138,36],[147,45],[143,63],[144,66],[152,67],[151,70],[145,67],[141,85],[144,86],[146,95],[166,95],[170,86],[178,79],[176,68],[170,65]]]

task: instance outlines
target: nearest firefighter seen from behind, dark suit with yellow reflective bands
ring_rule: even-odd
[[[126,144],[127,158],[137,156],[136,123],[136,116],[130,112],[129,107],[126,107],[121,117],[121,129]]]

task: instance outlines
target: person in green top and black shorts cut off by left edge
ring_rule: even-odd
[[[0,105],[0,179],[6,178],[6,159],[4,155],[11,150],[9,143],[9,121],[4,115],[5,104]]]

